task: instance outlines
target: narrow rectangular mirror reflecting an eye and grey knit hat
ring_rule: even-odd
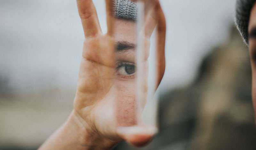
[[[117,126],[142,122],[155,126],[157,71],[156,42],[152,36],[156,26],[155,3],[116,0],[114,5]],[[151,46],[150,38],[154,43]]]

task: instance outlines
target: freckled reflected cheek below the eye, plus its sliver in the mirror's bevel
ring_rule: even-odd
[[[115,80],[116,119],[118,126],[132,126],[138,124],[138,115],[141,114],[141,111],[146,105],[148,95],[148,62],[144,62],[143,66],[143,100],[140,105],[137,104],[136,100],[136,78]]]

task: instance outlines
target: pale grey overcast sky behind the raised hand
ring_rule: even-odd
[[[106,31],[103,0],[94,0]],[[167,20],[162,89],[188,84],[202,57],[227,40],[235,0],[161,0]],[[73,0],[0,1],[0,75],[10,86],[76,88],[83,30]]]

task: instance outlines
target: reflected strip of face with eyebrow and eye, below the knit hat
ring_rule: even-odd
[[[117,126],[132,126],[138,124],[136,103],[136,23],[132,20],[115,19],[115,41],[119,45],[116,49],[117,65],[114,87],[116,87],[116,121]],[[149,48],[149,38],[146,46]],[[148,56],[149,49],[145,49],[143,58],[144,99],[140,108],[146,104],[148,92]],[[127,70],[129,68],[129,70]],[[134,73],[132,73],[134,72]],[[130,74],[132,73],[132,74]],[[140,110],[142,110],[140,109]]]

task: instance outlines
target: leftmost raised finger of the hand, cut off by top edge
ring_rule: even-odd
[[[92,0],[76,0],[76,3],[82,21],[85,38],[94,37],[97,34],[100,34],[100,23]]]

